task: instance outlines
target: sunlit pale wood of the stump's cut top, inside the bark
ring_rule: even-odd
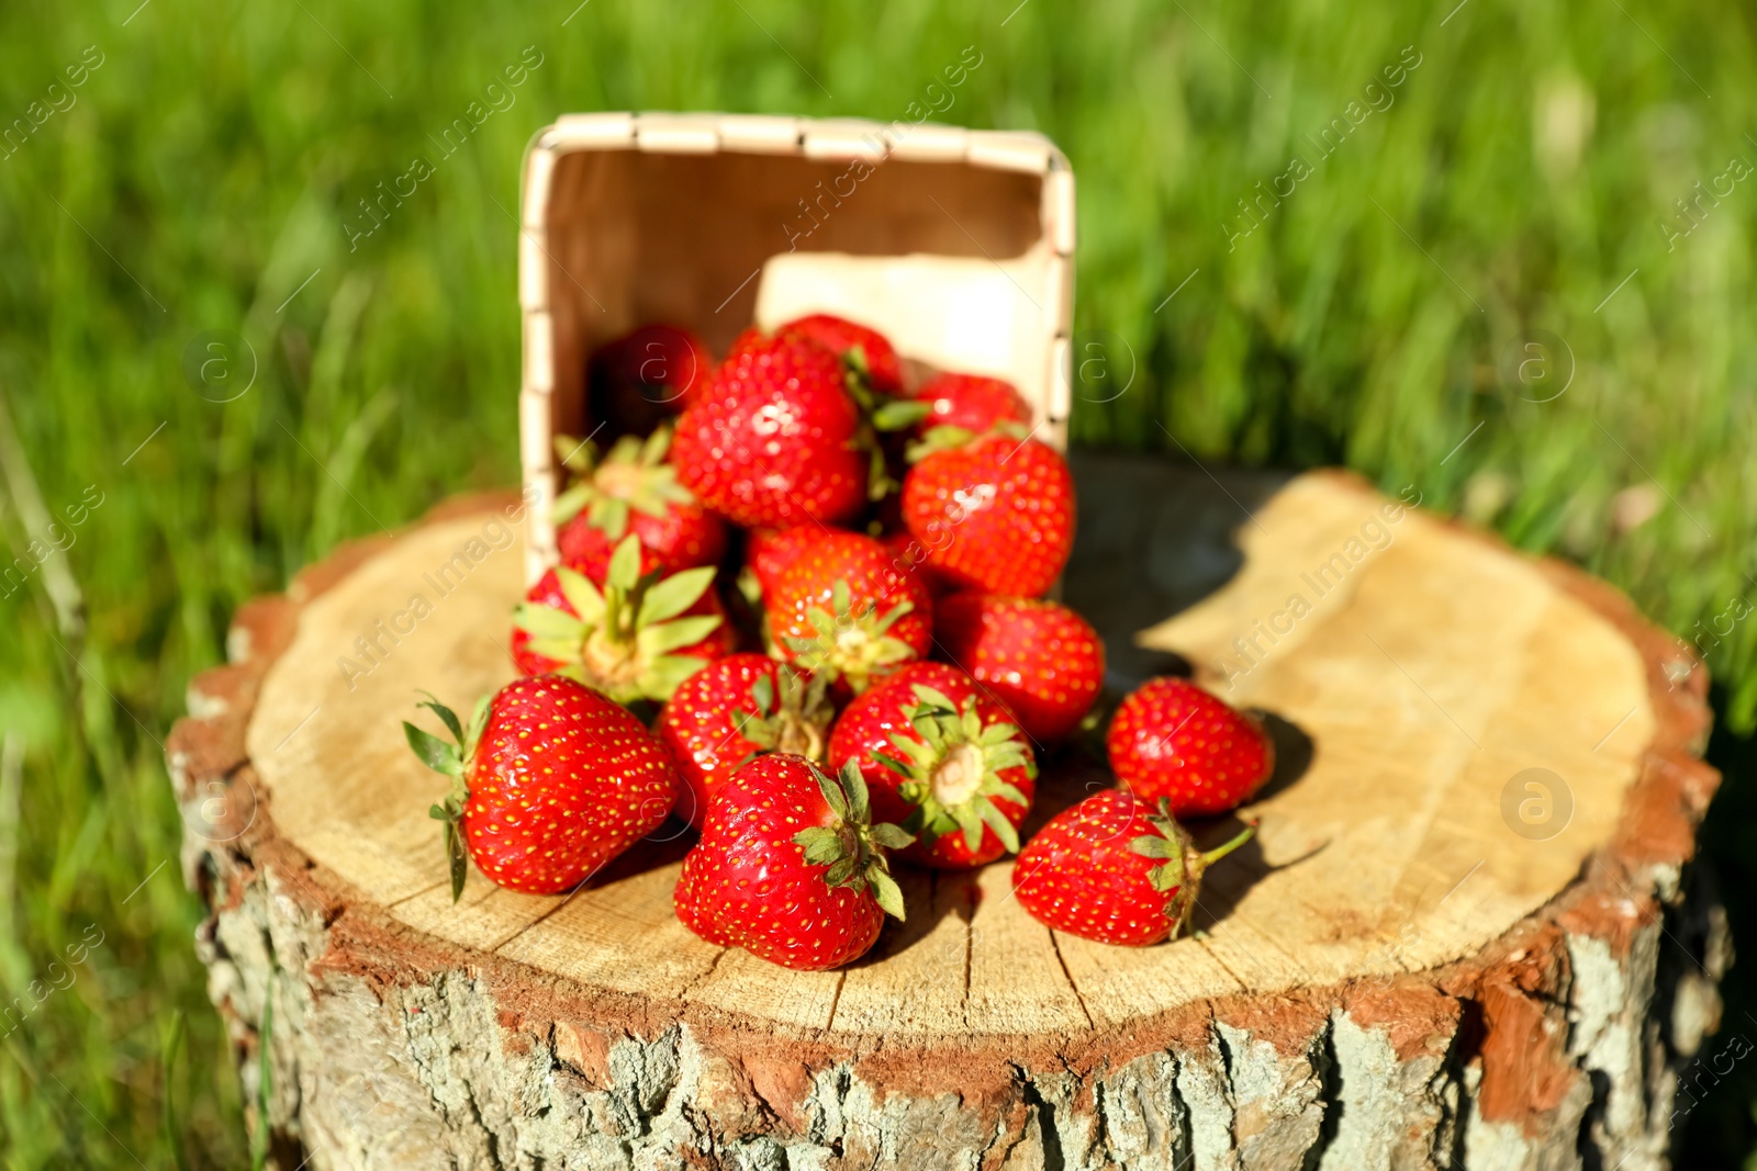
[[[264,683],[248,748],[278,830],[409,929],[583,987],[794,1029],[1070,1032],[1207,997],[1428,967],[1474,953],[1574,880],[1611,832],[1653,711],[1630,643],[1536,565],[1421,513],[1385,521],[1383,507],[1337,478],[1291,481],[1254,521],[1239,518],[1239,572],[1142,636],[1312,744],[1304,776],[1246,811],[1262,818],[1260,843],[1214,871],[1197,916],[1205,936],[1170,946],[1052,938],[1010,897],[1010,864],[998,864],[907,874],[910,922],[889,925],[873,955],[845,973],[785,973],[722,957],[676,923],[675,846],[662,844],[640,848],[650,864],[566,899],[492,890],[473,874],[453,908],[427,818],[445,785],[408,751],[399,722],[415,716],[418,688],[466,708],[513,678],[517,546],[481,546],[443,595],[430,576],[481,544],[480,516],[401,537],[306,606]],[[1307,574],[1374,516],[1388,544],[1363,542],[1367,555],[1318,597]],[[1311,613],[1274,643],[1260,636],[1239,672],[1233,639],[1302,592]],[[371,671],[337,662],[367,665],[355,639],[415,595],[432,613]],[[1527,767],[1555,771],[1573,794],[1571,823],[1548,841],[1502,820],[1500,792]]]

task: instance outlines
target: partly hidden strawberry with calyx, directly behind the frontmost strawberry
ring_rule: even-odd
[[[824,692],[824,676],[806,678],[768,655],[727,655],[689,676],[654,729],[689,787],[678,813],[701,829],[708,797],[752,757],[822,762],[835,718]]]

